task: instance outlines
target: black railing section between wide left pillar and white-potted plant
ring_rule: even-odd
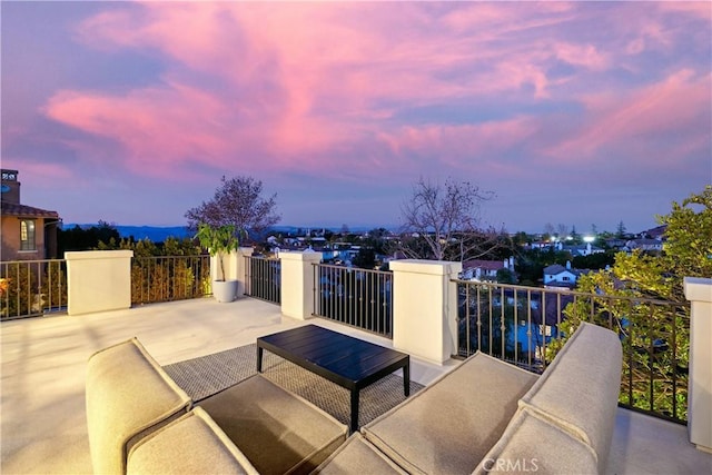
[[[209,256],[134,257],[131,304],[199,298],[212,294]]]

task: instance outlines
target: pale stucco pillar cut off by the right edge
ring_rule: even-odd
[[[688,432],[699,449],[712,453],[712,279],[685,277],[691,301]]]

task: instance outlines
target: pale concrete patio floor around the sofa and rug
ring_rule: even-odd
[[[83,316],[4,321],[1,336],[0,473],[91,473],[85,415],[86,363],[95,352],[138,337],[161,365],[254,343],[307,323],[384,346],[392,342],[320,318],[283,317],[277,305],[195,299]],[[412,359],[427,385],[458,363]],[[686,427],[619,409],[611,474],[712,473],[712,455],[688,442]]]

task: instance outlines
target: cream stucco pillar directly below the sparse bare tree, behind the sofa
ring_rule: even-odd
[[[392,260],[393,346],[443,364],[456,352],[457,285],[462,263]]]

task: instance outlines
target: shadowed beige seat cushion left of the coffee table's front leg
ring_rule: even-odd
[[[261,375],[199,406],[263,474],[309,473],[348,434],[344,424]]]

